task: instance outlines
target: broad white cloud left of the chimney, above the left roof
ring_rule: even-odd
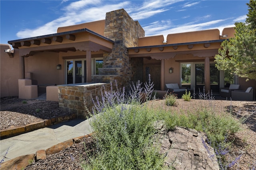
[[[56,33],[58,27],[104,20],[106,12],[109,12],[110,9],[118,10],[130,4],[128,1],[123,1],[118,4],[107,4],[105,2],[107,1],[104,1],[102,4],[100,1],[87,0],[72,2],[64,8],[64,13],[59,18],[35,29],[21,30],[16,34],[16,36],[18,38],[42,36]],[[89,4],[91,5],[90,7],[88,7]]]

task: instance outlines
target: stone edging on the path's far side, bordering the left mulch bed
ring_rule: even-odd
[[[77,118],[76,114],[72,114],[72,115],[66,115],[66,116],[60,116],[60,117],[53,117],[51,119],[46,119],[46,120],[41,121],[41,122],[30,123],[30,124],[22,126],[22,127],[1,129],[0,130],[0,137],[1,137],[1,140],[2,140],[2,139],[5,139],[5,138],[17,136],[19,134],[31,132],[33,130],[48,127],[50,125],[55,125],[57,123],[61,123],[63,121],[68,121],[68,120],[76,119],[76,118]]]

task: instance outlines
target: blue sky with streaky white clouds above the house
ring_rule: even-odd
[[[56,33],[58,27],[104,20],[124,8],[145,36],[225,27],[245,22],[249,0],[0,0],[0,43]]]

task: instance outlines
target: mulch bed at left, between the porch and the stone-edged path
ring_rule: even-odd
[[[52,117],[70,115],[59,109],[56,101],[25,100],[18,97],[1,98],[0,128],[25,126]]]

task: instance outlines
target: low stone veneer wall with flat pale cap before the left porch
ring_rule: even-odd
[[[92,98],[95,100],[96,96],[100,97],[103,86],[106,90],[110,89],[109,83],[58,86],[60,109],[76,114],[78,118],[86,119],[88,111],[92,111]]]

